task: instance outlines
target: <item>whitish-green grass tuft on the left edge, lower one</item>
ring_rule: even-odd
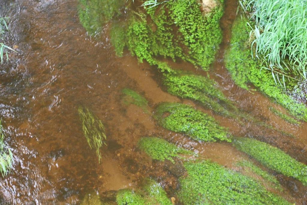
[[[2,177],[10,173],[13,166],[13,154],[4,144],[4,132],[0,121],[0,173]]]

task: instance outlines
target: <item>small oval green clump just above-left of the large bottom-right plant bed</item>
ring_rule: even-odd
[[[138,141],[138,147],[146,152],[153,160],[170,160],[174,162],[173,157],[179,157],[179,154],[193,154],[188,150],[178,148],[176,145],[157,137],[142,137]]]

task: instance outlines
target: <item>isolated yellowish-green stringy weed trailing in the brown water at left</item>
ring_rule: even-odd
[[[101,120],[98,119],[88,108],[80,106],[78,108],[80,120],[82,122],[83,134],[90,148],[96,150],[99,163],[101,161],[100,148],[106,144],[105,128]]]

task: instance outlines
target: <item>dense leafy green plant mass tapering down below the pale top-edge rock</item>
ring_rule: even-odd
[[[167,8],[174,24],[179,28],[183,43],[188,47],[194,65],[207,70],[214,61],[215,53],[222,41],[220,18],[223,15],[223,1],[204,14],[198,0],[169,1]]]

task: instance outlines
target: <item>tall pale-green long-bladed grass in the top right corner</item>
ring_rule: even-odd
[[[256,55],[269,63],[268,69],[276,69],[283,75],[294,73],[306,79],[307,1],[243,2],[251,8],[255,20]]]

